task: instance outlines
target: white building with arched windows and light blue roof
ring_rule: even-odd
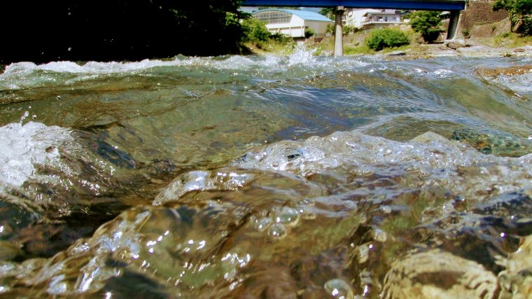
[[[316,34],[325,34],[328,25],[335,22],[313,11],[268,8],[253,13],[253,18],[266,23],[269,32],[292,37],[304,37],[304,30],[311,28]]]

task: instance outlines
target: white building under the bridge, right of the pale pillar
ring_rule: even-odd
[[[353,25],[358,29],[380,28],[402,23],[401,15],[395,9],[348,8],[344,15],[346,25]]]

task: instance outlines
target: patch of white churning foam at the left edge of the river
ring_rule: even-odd
[[[69,130],[42,123],[10,123],[0,127],[0,192],[18,188],[34,177],[35,165],[57,163],[57,146],[69,139]]]

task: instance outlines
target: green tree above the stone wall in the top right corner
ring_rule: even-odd
[[[505,9],[510,13],[512,31],[532,35],[532,0],[497,0],[493,11]]]

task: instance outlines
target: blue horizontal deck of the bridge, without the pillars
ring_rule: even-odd
[[[424,11],[461,11],[465,0],[244,0],[243,6],[306,6],[345,8],[395,8],[418,9]]]

